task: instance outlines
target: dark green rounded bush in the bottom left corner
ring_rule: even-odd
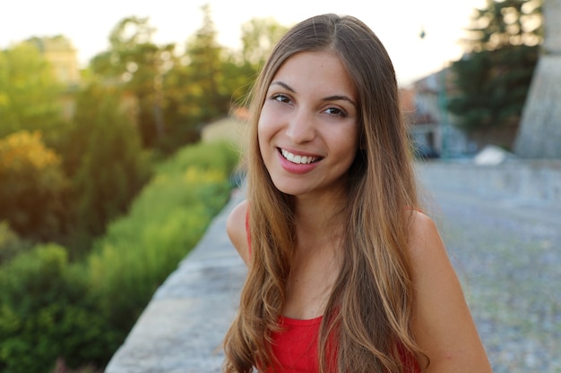
[[[63,247],[38,246],[0,269],[2,372],[49,372],[61,358],[73,368],[101,365],[117,345]]]

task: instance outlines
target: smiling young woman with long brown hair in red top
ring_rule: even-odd
[[[490,372],[433,221],[419,212],[393,65],[325,14],[280,40],[253,92],[248,273],[226,372]]]

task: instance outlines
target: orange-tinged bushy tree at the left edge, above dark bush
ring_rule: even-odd
[[[69,182],[61,158],[39,131],[0,140],[0,221],[22,237],[56,241],[66,226]]]

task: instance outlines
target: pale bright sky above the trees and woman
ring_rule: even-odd
[[[129,16],[149,17],[156,44],[181,46],[202,26],[203,4],[211,6],[220,45],[232,48],[240,47],[241,25],[253,18],[290,26],[319,13],[356,16],[382,40],[398,81],[408,85],[462,56],[458,41],[485,0],[2,0],[0,49],[33,36],[64,35],[85,66],[108,49],[109,33]]]

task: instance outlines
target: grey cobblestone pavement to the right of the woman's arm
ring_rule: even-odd
[[[494,372],[561,372],[561,206],[426,185]]]

